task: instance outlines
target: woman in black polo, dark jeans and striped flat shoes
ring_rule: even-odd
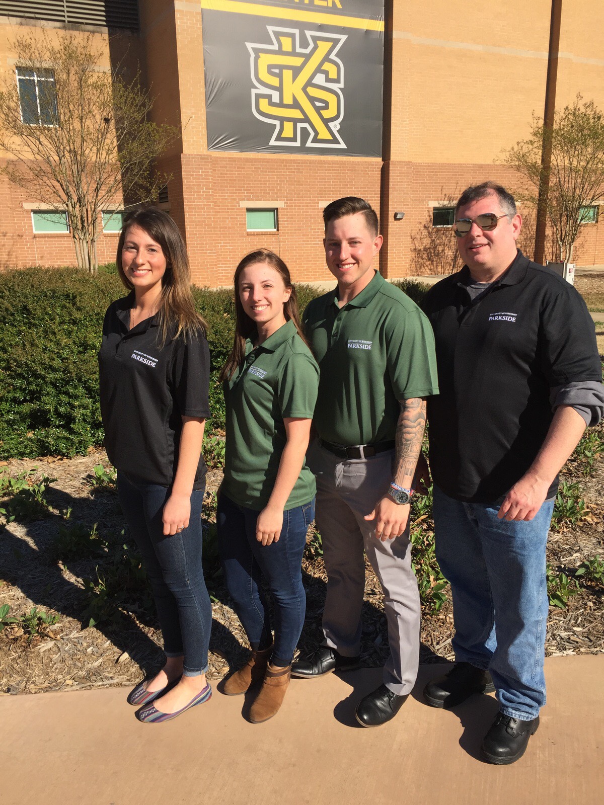
[[[212,696],[205,680],[212,608],[201,568],[201,456],[209,351],[176,224],[132,213],[118,242],[130,291],[105,314],[99,352],[105,447],[151,580],[166,661],[130,692],[141,721],[172,719]]]

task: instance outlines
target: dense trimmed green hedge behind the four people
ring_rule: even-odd
[[[419,301],[426,287],[397,283]],[[297,287],[304,309],[317,291]],[[232,291],[194,288],[209,324],[210,427],[224,427],[217,374],[233,343]],[[114,266],[96,277],[72,269],[0,274],[0,460],[73,456],[102,443],[97,350],[109,304],[124,295]]]

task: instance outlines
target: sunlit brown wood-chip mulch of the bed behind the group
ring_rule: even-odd
[[[71,509],[68,522],[87,526],[97,523],[98,533],[114,535],[119,542],[122,514],[114,491],[91,485],[93,466],[107,465],[104,452],[67,459],[10,460],[0,470],[17,475],[37,467],[56,478],[48,487],[51,506],[48,517],[36,522],[10,522],[0,526],[0,606],[10,605],[11,616],[21,616],[35,606],[55,613],[59,621],[48,625],[33,638],[20,626],[7,626],[0,632],[0,693],[37,693],[111,685],[132,685],[161,662],[161,633],[155,617],[144,609],[122,610],[115,622],[100,622],[82,628],[85,607],[84,580],[93,578],[99,562],[78,559],[61,564],[53,558],[52,546],[64,514]],[[573,471],[573,466],[570,466]],[[208,488],[217,489],[221,471],[211,470]],[[590,518],[581,527],[552,533],[548,561],[554,568],[576,568],[586,558],[604,557],[602,500],[604,462],[596,472],[581,481]],[[1,504],[0,504],[1,505]],[[116,538],[117,535],[117,538]],[[309,535],[310,536],[310,535]],[[246,654],[246,637],[221,582],[217,565],[209,573],[213,597],[213,633],[210,643],[209,677],[218,679],[238,667]],[[304,556],[304,584],[307,590],[307,618],[300,640],[304,653],[321,638],[321,611],[325,599],[325,568],[321,555],[314,555],[312,542]],[[366,590],[362,638],[362,662],[382,665],[387,658],[386,621],[379,582],[370,566],[366,568]],[[604,651],[604,590],[581,588],[569,598],[565,609],[550,609],[546,652],[595,654]],[[422,623],[423,662],[443,662],[453,658],[453,610],[447,601],[438,613],[424,613]]]

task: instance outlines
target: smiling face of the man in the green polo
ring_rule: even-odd
[[[383,243],[367,226],[363,213],[329,221],[325,230],[325,262],[340,290],[356,295],[373,279],[371,263]]]

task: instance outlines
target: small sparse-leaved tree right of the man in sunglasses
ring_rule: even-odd
[[[594,101],[581,101],[577,95],[573,105],[556,112],[552,127],[533,114],[528,138],[504,156],[527,180],[517,191],[520,199],[536,207],[540,188],[547,189],[542,198],[561,262],[572,262],[583,208],[604,196],[604,114]],[[544,151],[551,151],[549,165],[542,163]]]

